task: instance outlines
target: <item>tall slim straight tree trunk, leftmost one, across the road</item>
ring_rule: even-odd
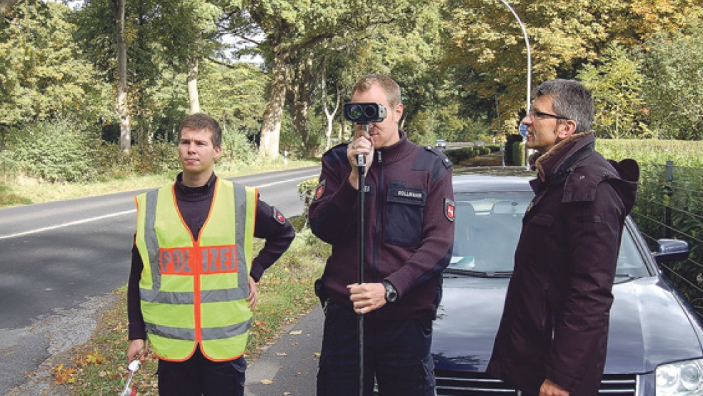
[[[129,155],[131,150],[131,132],[129,109],[127,106],[127,43],[124,37],[124,2],[117,0],[117,112],[119,114],[119,147]]]

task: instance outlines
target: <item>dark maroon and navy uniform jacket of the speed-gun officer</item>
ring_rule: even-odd
[[[374,150],[364,202],[364,282],[387,280],[398,300],[366,316],[434,319],[454,242],[452,164],[437,149],[419,147],[405,132],[399,134],[396,144]],[[359,281],[359,193],[349,184],[346,146],[339,144],[322,157],[309,219],[312,232],[332,245],[324,291],[352,310],[346,285]]]

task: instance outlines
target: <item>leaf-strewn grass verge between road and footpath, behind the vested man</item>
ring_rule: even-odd
[[[263,242],[256,242],[261,249]],[[299,232],[288,251],[264,273],[259,282],[259,304],[254,311],[246,355],[255,360],[274,342],[287,325],[309,312],[317,303],[314,279],[319,277],[324,259],[331,250],[309,229]],[[116,305],[105,312],[93,336],[72,350],[73,365],[54,367],[57,385],[67,385],[75,395],[116,395],[126,380],[127,314],[126,287]],[[158,395],[156,357],[151,355],[134,376],[139,395]]]

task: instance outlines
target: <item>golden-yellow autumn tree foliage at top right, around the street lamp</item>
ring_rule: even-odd
[[[527,28],[532,81],[572,78],[598,61],[611,42],[627,49],[657,31],[675,31],[701,13],[696,0],[510,1]],[[495,96],[517,121],[526,106],[527,49],[514,16],[499,0],[448,0],[452,44],[449,64],[467,64],[477,93]],[[510,122],[517,127],[517,122]]]

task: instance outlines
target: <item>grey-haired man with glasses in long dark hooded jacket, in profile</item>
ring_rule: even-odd
[[[594,151],[590,92],[546,81],[522,122],[535,197],[488,372],[524,395],[593,396],[603,375],[612,286],[639,168]]]

